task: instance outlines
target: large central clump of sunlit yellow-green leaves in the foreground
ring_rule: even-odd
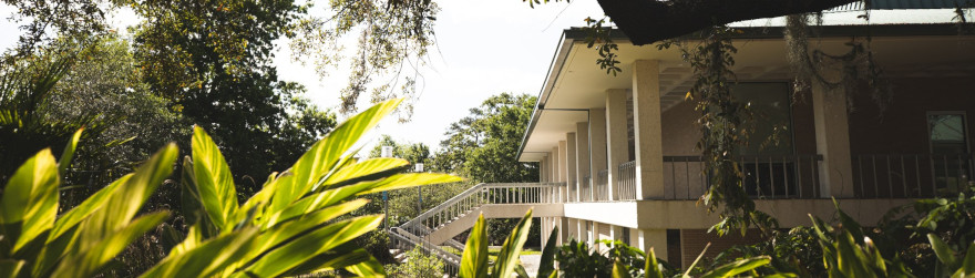
[[[184,183],[204,213],[198,214],[183,243],[144,277],[271,277],[333,269],[381,275],[381,265],[350,240],[377,228],[382,217],[337,217],[368,203],[357,196],[459,179],[388,171],[404,165],[401,159],[351,159],[352,145],[399,102],[384,102],[349,119],[290,169],[271,174],[264,188],[240,205],[230,188],[224,157],[196,127],[193,158],[184,163],[184,176],[188,177]]]

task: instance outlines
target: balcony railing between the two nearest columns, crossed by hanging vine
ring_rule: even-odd
[[[746,193],[755,198],[820,198],[822,155],[741,155]],[[710,186],[700,156],[664,156],[664,198],[698,199]]]

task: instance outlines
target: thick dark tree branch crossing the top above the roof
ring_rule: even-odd
[[[818,12],[855,0],[598,0],[633,44],[644,45],[736,21]]]

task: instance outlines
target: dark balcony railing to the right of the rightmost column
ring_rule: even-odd
[[[972,154],[864,154],[853,156],[859,198],[926,198],[972,183]]]

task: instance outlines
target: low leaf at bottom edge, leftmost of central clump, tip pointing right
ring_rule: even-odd
[[[196,248],[170,254],[140,277],[211,277],[243,259],[257,233],[257,228],[244,228],[206,240]]]

